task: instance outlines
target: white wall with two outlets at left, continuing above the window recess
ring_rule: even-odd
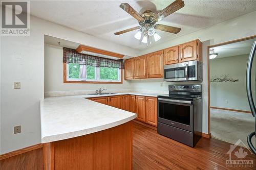
[[[39,100],[44,98],[44,35],[123,55],[138,54],[130,47],[101,40],[33,16],[30,23],[30,36],[1,37],[0,154],[41,141]],[[13,89],[15,81],[21,82],[21,89]],[[17,125],[22,126],[22,133],[13,134],[13,127]]]

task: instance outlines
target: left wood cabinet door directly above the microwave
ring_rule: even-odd
[[[179,46],[173,46],[164,49],[164,65],[175,64],[179,62]]]

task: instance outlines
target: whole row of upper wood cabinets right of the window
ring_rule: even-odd
[[[202,42],[197,39],[127,59],[124,61],[124,79],[145,79],[163,77],[163,65],[194,61],[202,62]]]

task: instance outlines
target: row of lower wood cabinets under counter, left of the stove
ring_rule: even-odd
[[[140,122],[157,126],[157,98],[141,95],[114,95],[89,99],[136,113],[136,119]]]

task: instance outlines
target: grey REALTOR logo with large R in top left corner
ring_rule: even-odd
[[[30,35],[30,2],[1,1],[1,36]]]

